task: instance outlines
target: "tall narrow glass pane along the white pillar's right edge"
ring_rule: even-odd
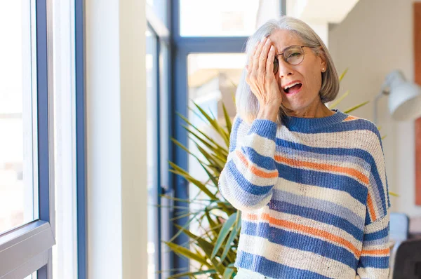
[[[157,132],[157,76],[156,76],[156,36],[149,30],[146,32],[146,79],[147,79],[147,254],[148,254],[148,278],[155,278],[156,269],[156,221],[157,221],[157,170],[158,160],[156,154],[158,144]]]

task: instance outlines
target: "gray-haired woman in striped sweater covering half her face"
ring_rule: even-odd
[[[219,180],[241,210],[236,278],[387,278],[380,134],[324,104],[339,90],[328,49],[305,22],[283,17],[246,52]]]

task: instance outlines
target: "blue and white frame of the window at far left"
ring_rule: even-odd
[[[0,277],[52,276],[55,245],[52,0],[36,0],[36,107],[39,219],[0,236]]]

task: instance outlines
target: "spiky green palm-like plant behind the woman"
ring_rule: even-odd
[[[346,71],[340,76],[340,80],[345,76],[345,73]],[[344,93],[333,104],[330,104],[329,108],[333,109],[336,107],[348,94],[348,91]],[[346,109],[344,112],[349,114],[367,103],[368,102],[363,102]],[[201,275],[206,275],[207,278],[232,278],[236,274],[234,260],[236,258],[236,247],[239,243],[241,214],[222,198],[218,189],[220,172],[227,161],[232,121],[229,118],[224,104],[222,104],[225,116],[225,120],[222,121],[223,123],[219,123],[215,117],[208,114],[199,105],[194,104],[194,107],[200,112],[201,116],[203,116],[206,125],[210,126],[218,136],[222,138],[223,143],[220,144],[206,135],[203,130],[197,128],[187,118],[180,115],[187,124],[183,125],[183,127],[187,130],[189,138],[194,142],[201,154],[200,158],[177,140],[172,140],[178,147],[182,148],[196,159],[197,163],[201,165],[208,177],[204,182],[199,181],[199,179],[194,178],[194,176],[186,170],[183,170],[178,165],[170,162],[171,167],[173,168],[171,172],[175,175],[180,175],[199,190],[199,194],[189,200],[163,196],[199,207],[199,210],[192,211],[188,209],[186,212],[182,212],[182,214],[173,218],[174,220],[187,217],[188,221],[185,223],[185,226],[177,226],[179,229],[178,233],[176,233],[171,240],[166,242],[166,245],[168,245],[173,252],[180,254],[183,257],[187,257],[190,261],[194,261],[196,270],[178,273],[172,275],[170,278],[186,276],[189,278],[197,278],[197,276],[200,277]],[[393,196],[397,196],[395,193],[389,193]],[[190,229],[191,224],[195,224],[198,227],[198,229],[194,230],[195,232]],[[200,231],[200,233],[197,233],[196,231]],[[189,245],[187,245],[187,247],[185,247],[185,245],[176,245],[173,243],[173,240],[180,235],[180,233],[185,233],[189,237]]]

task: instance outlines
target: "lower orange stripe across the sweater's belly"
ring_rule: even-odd
[[[246,215],[246,219],[257,220],[258,216],[257,215],[253,216],[253,214],[248,214]],[[286,220],[276,219],[274,217],[270,217],[268,214],[265,214],[265,213],[262,214],[262,219],[269,221],[269,224],[275,224],[276,226],[282,226],[288,229],[295,229],[297,231],[302,231],[304,233],[308,233],[313,236],[321,236],[322,238],[333,241],[334,243],[338,243],[339,245],[348,247],[349,250],[354,252],[356,257],[359,257],[361,254],[361,251],[356,249],[356,247],[352,243],[350,243],[345,238],[341,238],[340,236],[335,236],[333,233],[328,233],[327,231],[316,229],[311,226],[304,226],[304,225],[295,224],[293,222],[289,222]]]

